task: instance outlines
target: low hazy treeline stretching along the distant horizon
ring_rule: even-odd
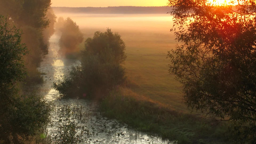
[[[53,7],[56,13],[90,13],[90,14],[165,14],[171,11],[168,6],[161,7],[134,7],[134,6],[119,6],[119,7]]]

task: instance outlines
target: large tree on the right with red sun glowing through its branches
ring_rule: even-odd
[[[255,142],[254,0],[169,0],[169,6],[171,31],[181,43],[168,54],[169,71],[183,84],[185,103],[218,120],[238,123],[244,139]]]

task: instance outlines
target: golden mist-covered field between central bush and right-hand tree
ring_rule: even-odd
[[[176,110],[187,111],[182,101],[182,88],[174,75],[168,73],[167,52],[175,48],[171,16],[155,15],[83,15],[58,14],[71,17],[79,25],[85,39],[94,32],[110,28],[121,35],[126,44],[124,63],[131,90]],[[84,44],[83,44],[84,45]],[[83,48],[83,46],[81,46]]]

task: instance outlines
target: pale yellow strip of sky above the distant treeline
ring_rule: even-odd
[[[168,0],[51,0],[52,7],[166,6]]]

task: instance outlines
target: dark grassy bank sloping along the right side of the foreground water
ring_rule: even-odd
[[[179,112],[129,88],[118,88],[101,103],[104,116],[117,119],[138,131],[157,133],[178,144],[229,144],[228,123]]]

